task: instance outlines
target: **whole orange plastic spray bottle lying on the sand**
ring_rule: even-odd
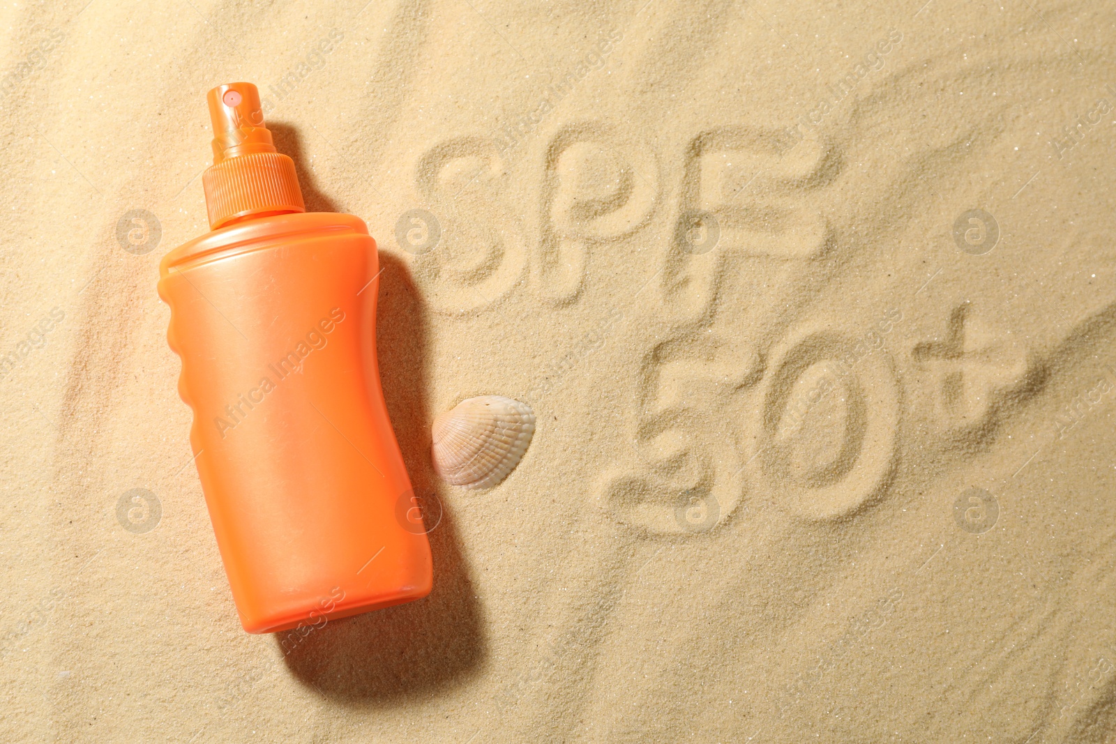
[[[307,213],[250,83],[209,93],[212,232],[160,264],[190,442],[244,630],[425,597],[430,544],[376,363],[376,243]]]

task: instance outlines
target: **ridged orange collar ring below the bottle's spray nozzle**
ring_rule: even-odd
[[[295,162],[282,153],[251,153],[221,161],[202,176],[210,228],[249,214],[305,212]]]

